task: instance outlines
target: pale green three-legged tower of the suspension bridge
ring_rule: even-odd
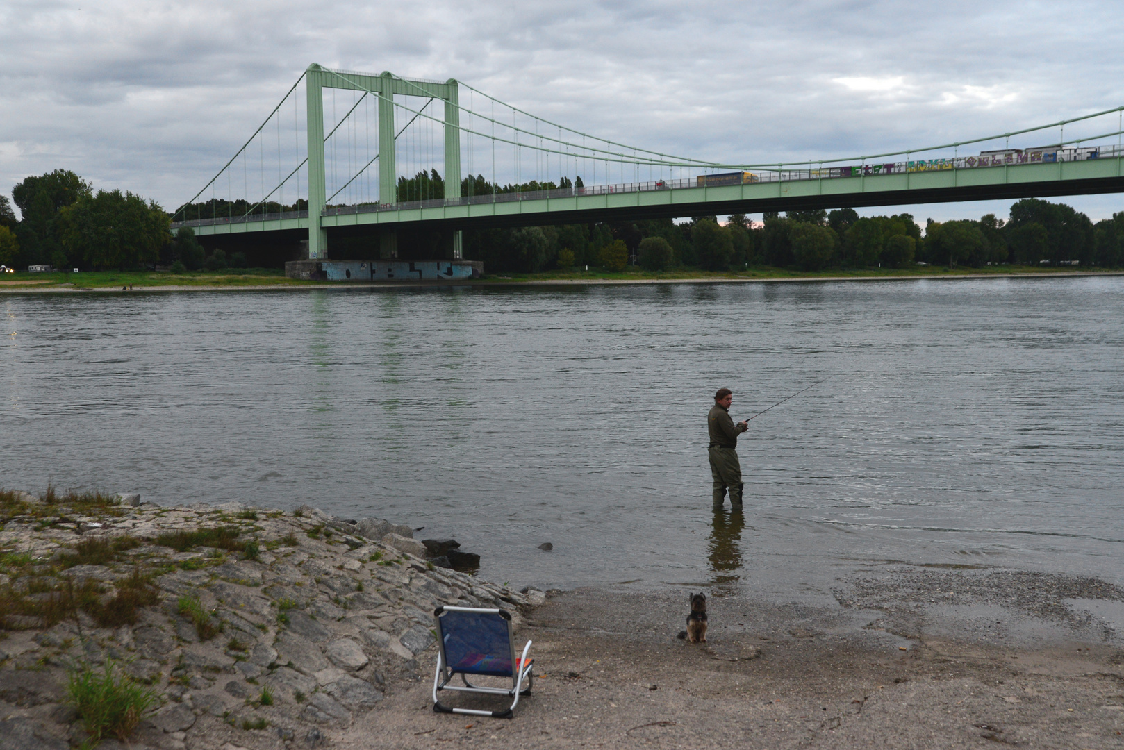
[[[398,164],[395,157],[395,96],[430,97],[445,102],[445,198],[461,197],[461,133],[459,87],[455,79],[444,83],[395,78],[389,72],[365,75],[333,71],[316,63],[306,71],[308,123],[308,257],[327,257],[327,234],[321,226],[321,215],[327,202],[327,183],[324,165],[324,89],[365,91],[379,101],[379,201],[397,202]],[[382,229],[379,238],[382,257],[398,257],[398,232]],[[461,233],[452,236],[450,256],[460,259]]]

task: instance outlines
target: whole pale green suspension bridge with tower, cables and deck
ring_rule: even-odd
[[[356,235],[395,259],[400,232],[425,228],[460,259],[468,228],[1124,192],[1122,126],[1124,107],[903,152],[719,163],[581,133],[452,79],[312,64],[172,227],[307,237],[312,261]]]

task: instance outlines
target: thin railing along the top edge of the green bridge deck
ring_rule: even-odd
[[[432,200],[413,200],[397,204],[359,204],[355,206],[328,206],[323,216],[347,216],[354,214],[373,214],[379,211],[417,210],[422,208],[444,208],[451,206],[474,206],[481,204],[509,204],[524,200],[544,200],[574,198],[582,196],[608,196],[614,193],[637,193],[663,190],[681,190],[687,188],[713,188],[729,184],[750,184],[755,182],[794,182],[801,180],[825,180],[836,178],[867,177],[878,174],[900,174],[907,172],[932,172],[944,170],[978,169],[981,166],[1017,166],[1022,164],[1042,164],[1053,162],[1088,161],[1093,159],[1111,159],[1124,156],[1124,146],[1104,145],[1075,148],[1009,150],[1003,152],[985,152],[971,156],[952,156],[928,160],[906,160],[895,162],[870,162],[843,166],[821,166],[815,162],[807,169],[794,169],[778,165],[776,169],[758,169],[752,172],[732,172],[720,174],[700,174],[689,179],[651,180],[647,182],[624,182],[618,184],[595,184],[584,187],[558,188],[555,190],[534,190],[527,192],[497,192],[482,196],[462,196],[460,198],[435,198]],[[275,222],[280,219],[307,218],[308,211],[282,211],[274,214],[253,214],[248,216],[216,217],[205,219],[188,219],[174,222],[173,228],[193,226],[214,226],[224,224],[247,224],[254,222]]]

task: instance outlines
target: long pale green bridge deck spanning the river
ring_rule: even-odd
[[[972,169],[823,177],[822,170],[785,172],[743,184],[698,187],[695,181],[595,186],[536,193],[499,193],[397,205],[325,209],[321,226],[352,234],[377,226],[436,225],[455,229],[580,224],[627,218],[755,214],[770,210],[899,206],[1124,192],[1124,157]],[[173,224],[199,235],[307,229],[307,211]]]

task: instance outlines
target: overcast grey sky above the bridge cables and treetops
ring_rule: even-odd
[[[455,78],[699,159],[916,147],[1124,105],[1122,27],[1118,1],[0,0],[0,190],[64,168],[175,207],[311,62]],[[1124,210],[1064,200],[1094,220]]]

